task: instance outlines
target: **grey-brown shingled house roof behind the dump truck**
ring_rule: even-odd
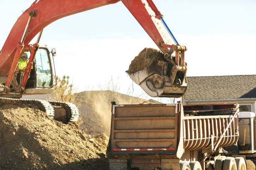
[[[187,77],[184,100],[256,98],[256,75]]]

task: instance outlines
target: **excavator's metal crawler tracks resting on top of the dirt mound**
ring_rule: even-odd
[[[62,107],[66,110],[66,123],[77,122],[79,118],[79,110],[76,105],[69,102],[57,102],[57,101],[47,101],[47,100],[35,100],[35,99],[12,99],[0,97],[1,104],[11,104],[11,105],[20,105],[20,106],[36,106],[41,111],[46,112],[51,119],[55,119],[55,110],[57,107]]]

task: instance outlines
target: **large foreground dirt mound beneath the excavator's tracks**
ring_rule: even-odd
[[[31,108],[0,110],[0,169],[108,170],[108,137]]]

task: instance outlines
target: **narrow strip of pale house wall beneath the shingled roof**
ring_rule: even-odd
[[[251,111],[255,112],[256,99],[227,99],[227,100],[184,100],[185,105],[193,104],[217,104],[217,103],[238,103],[239,105],[251,105]]]

